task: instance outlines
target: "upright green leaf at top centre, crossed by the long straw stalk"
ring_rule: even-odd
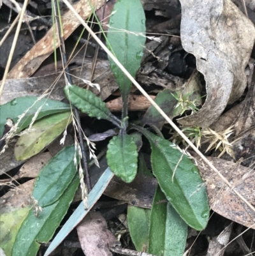
[[[108,49],[113,52],[126,70],[135,77],[138,68],[140,68],[143,46],[145,45],[145,36],[140,35],[141,33],[145,35],[146,32],[143,6],[140,0],[120,0],[115,3],[113,11],[116,12],[110,16],[110,27],[107,32]],[[125,102],[128,100],[132,82],[112,59],[109,60],[122,94],[124,107],[128,107],[125,106]]]

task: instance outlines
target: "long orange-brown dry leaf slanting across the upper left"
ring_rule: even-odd
[[[106,0],[107,1],[107,0]],[[82,17],[82,19],[87,19],[91,13],[91,7],[96,6],[95,9],[98,10],[104,3],[105,0],[87,0],[78,1],[78,3],[73,5],[73,8]],[[71,33],[80,25],[80,22],[73,16],[72,11],[66,12],[62,17],[62,29],[64,40],[68,38]],[[18,79],[31,77],[34,72],[40,67],[41,63],[47,59],[50,54],[54,51],[54,32],[53,27],[48,30],[47,34],[34,45],[34,47],[25,54],[20,61],[12,68],[8,73],[8,79]],[[55,31],[57,29],[55,28]],[[55,48],[59,47],[59,40],[55,40]]]

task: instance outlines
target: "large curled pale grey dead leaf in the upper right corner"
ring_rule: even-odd
[[[180,3],[182,46],[194,54],[197,68],[205,76],[207,99],[200,111],[179,119],[179,123],[207,128],[246,87],[244,69],[254,45],[255,28],[230,0]]]

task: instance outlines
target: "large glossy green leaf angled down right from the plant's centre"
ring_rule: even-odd
[[[143,134],[149,139],[152,170],[166,198],[193,229],[205,229],[209,206],[198,168],[168,140],[147,131]]]

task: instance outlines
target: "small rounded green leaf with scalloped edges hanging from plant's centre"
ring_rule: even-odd
[[[106,153],[107,163],[112,172],[126,183],[135,179],[138,152],[136,144],[128,134],[113,137]]]

